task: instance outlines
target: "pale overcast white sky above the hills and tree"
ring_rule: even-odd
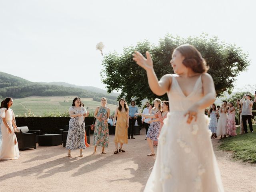
[[[253,0],[0,0],[0,71],[32,82],[67,82],[105,89],[96,44],[104,54],[170,33],[202,32],[248,52],[236,89],[256,84]]]

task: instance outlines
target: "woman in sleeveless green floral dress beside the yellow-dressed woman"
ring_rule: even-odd
[[[110,108],[106,107],[107,99],[101,98],[101,106],[97,107],[94,112],[94,118],[96,118],[94,124],[94,134],[93,134],[93,145],[94,152],[96,154],[97,146],[102,146],[102,154],[106,154],[105,147],[108,147],[108,118],[110,115]]]

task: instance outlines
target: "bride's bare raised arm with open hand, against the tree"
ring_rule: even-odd
[[[170,88],[170,84],[172,82],[172,75],[166,74],[162,76],[162,78],[158,81],[158,78],[153,68],[153,61],[150,53],[148,51],[146,52],[146,58],[138,51],[135,51],[132,55],[134,56],[133,60],[136,61],[139,66],[146,70],[148,76],[148,84],[152,92],[156,95],[165,94]]]

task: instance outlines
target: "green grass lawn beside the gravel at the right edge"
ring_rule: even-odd
[[[252,125],[254,133],[248,128],[248,134],[237,135],[220,140],[220,150],[232,151],[234,160],[256,163],[256,124]],[[240,127],[236,129],[240,133]]]

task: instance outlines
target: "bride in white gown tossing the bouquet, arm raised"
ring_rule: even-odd
[[[144,192],[223,192],[209,118],[204,115],[216,92],[200,52],[191,45],[176,48],[170,61],[175,75],[166,74],[159,81],[149,52],[147,58],[139,52],[133,56],[146,70],[152,92],[167,92],[170,105]]]

